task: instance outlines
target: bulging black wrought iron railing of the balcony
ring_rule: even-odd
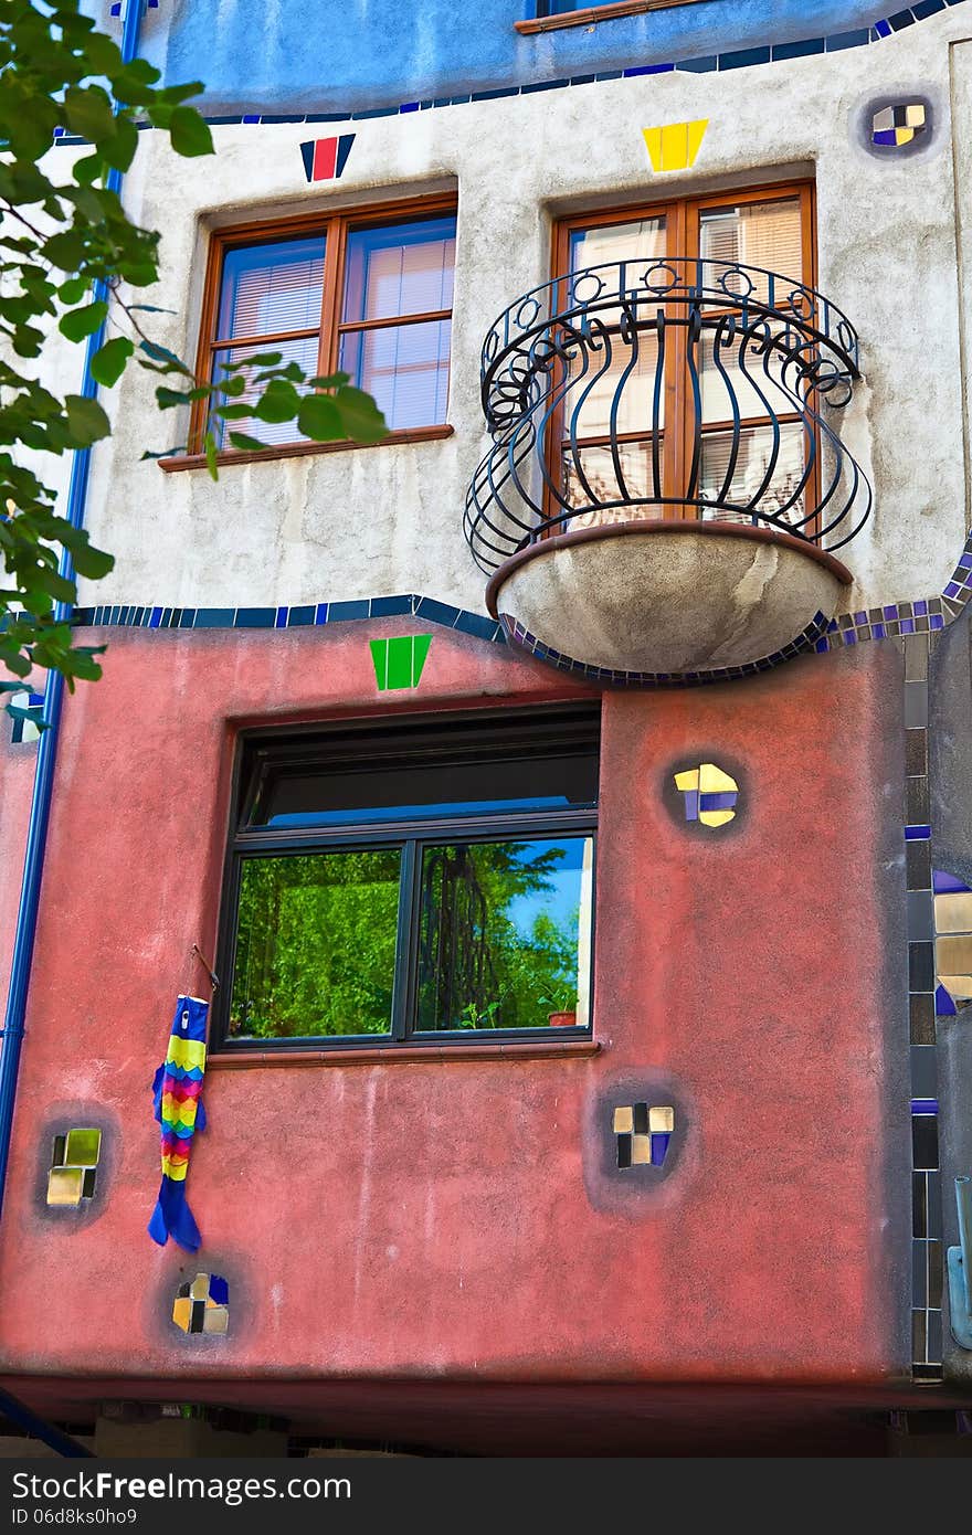
[[[851,321],[774,272],[673,256],[554,278],[482,348],[493,447],[467,497],[473,556],[494,569],[548,534],[643,517],[838,550],[871,487],[823,407],[858,376]]]

